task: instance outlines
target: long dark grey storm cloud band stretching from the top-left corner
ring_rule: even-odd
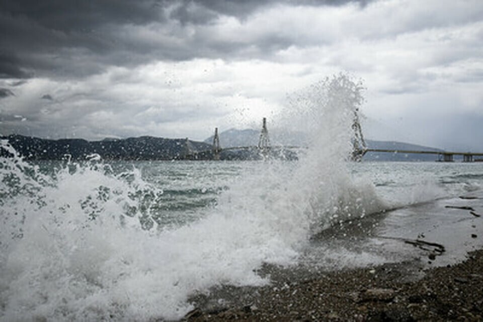
[[[308,1],[304,5],[339,6],[348,2]],[[358,3],[365,5],[366,1]],[[257,39],[255,44],[212,40],[212,35],[197,27],[210,26],[222,15],[242,21],[261,8],[280,4],[299,5],[290,0],[3,1],[0,78],[83,77],[110,65],[133,67],[154,60],[232,57],[248,47],[258,49],[252,54],[269,55],[287,48],[291,39],[269,36]],[[194,35],[185,30],[187,25],[194,26]],[[151,34],[145,36],[146,31]]]

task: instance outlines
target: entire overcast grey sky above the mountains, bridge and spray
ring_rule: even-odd
[[[2,135],[204,140],[339,72],[367,137],[483,151],[481,0],[0,2]]]

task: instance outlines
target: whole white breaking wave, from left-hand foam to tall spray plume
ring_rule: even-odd
[[[151,207],[163,191],[139,169],[94,157],[45,174],[2,142],[13,157],[0,159],[0,317],[179,319],[195,292],[269,282],[255,272],[263,263],[294,264],[312,234],[381,206],[344,162],[361,90],[338,75],[294,94],[289,110],[314,138],[306,155],[257,163],[170,229]]]

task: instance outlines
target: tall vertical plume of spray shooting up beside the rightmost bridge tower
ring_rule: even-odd
[[[352,124],[363,102],[362,90],[360,81],[339,74],[289,97],[289,123],[308,132],[307,157],[291,184],[292,190],[300,191],[302,204],[308,205],[312,233],[385,206],[372,183],[355,181],[343,162],[352,153]]]

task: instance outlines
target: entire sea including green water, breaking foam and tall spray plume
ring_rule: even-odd
[[[328,229],[481,188],[481,163],[348,162],[359,95],[340,76],[296,96],[316,122],[295,162],[28,162],[3,141],[0,320],[180,319],[213,286],[270,283],[262,265],[295,267]]]

